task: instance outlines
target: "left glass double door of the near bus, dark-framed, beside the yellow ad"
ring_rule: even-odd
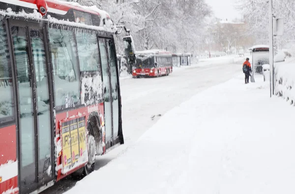
[[[53,135],[43,24],[8,19],[16,70],[21,193],[53,180]]]

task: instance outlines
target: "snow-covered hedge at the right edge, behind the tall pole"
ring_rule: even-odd
[[[283,97],[295,106],[295,58],[275,64],[275,95]]]

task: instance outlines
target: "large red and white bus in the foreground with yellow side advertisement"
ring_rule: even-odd
[[[99,9],[0,0],[0,194],[87,175],[124,143],[117,31]]]

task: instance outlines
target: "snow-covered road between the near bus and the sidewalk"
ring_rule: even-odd
[[[159,78],[123,78],[121,84],[122,119],[125,145],[97,157],[98,170],[124,149],[134,144],[169,110],[205,89],[225,82],[241,72],[241,62],[232,60],[201,62],[191,67],[175,68],[169,76]],[[161,116],[158,116],[161,115]],[[152,118],[154,116],[154,118]],[[170,123],[167,123],[167,126]],[[59,181],[42,194],[61,194],[75,185],[70,177]]]

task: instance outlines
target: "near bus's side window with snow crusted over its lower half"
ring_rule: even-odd
[[[101,63],[95,32],[76,30],[81,71],[81,102],[85,105],[103,101]]]

